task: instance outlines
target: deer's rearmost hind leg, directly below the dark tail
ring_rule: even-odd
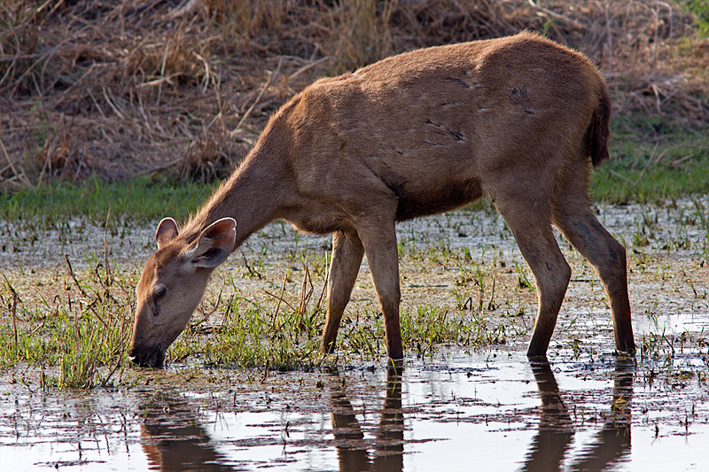
[[[569,187],[573,189],[573,186]],[[584,188],[584,187],[575,187]],[[577,191],[577,190],[574,190]],[[601,225],[591,212],[588,197],[565,197],[554,208],[554,223],[566,239],[591,263],[601,278],[608,297],[615,346],[620,352],[635,352],[630,302],[627,296],[626,249]]]

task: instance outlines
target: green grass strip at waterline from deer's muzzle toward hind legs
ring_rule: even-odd
[[[222,310],[224,308],[222,307]],[[322,308],[299,312],[261,306],[245,298],[227,304],[225,322],[203,329],[194,321],[175,341],[168,360],[198,359],[206,366],[278,370],[315,368],[334,361],[320,352],[320,337],[325,318]],[[205,339],[205,334],[208,340]],[[488,327],[479,316],[463,311],[443,310],[440,306],[418,306],[401,311],[401,340],[407,352],[418,356],[436,351],[440,344],[480,347],[504,344],[503,326]],[[338,359],[379,360],[386,356],[383,317],[366,311],[362,319],[345,319],[339,332]]]

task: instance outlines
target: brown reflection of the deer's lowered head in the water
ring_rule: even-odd
[[[178,399],[152,398],[142,407],[141,445],[152,470],[226,471],[225,457],[209,443],[209,436],[199,426],[197,412]]]

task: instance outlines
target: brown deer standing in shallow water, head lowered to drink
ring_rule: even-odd
[[[396,221],[488,197],[532,268],[543,356],[571,269],[555,225],[611,298],[615,346],[634,352],[626,251],[590,209],[591,164],[608,159],[611,104],[578,52],[534,33],[414,50],[321,79],[271,117],[243,163],[180,231],[160,221],[136,287],[131,359],[160,366],[209,275],[253,232],[284,220],[332,233],[322,348],[332,352],[362,255],[403,356]],[[590,157],[590,159],[588,159]]]

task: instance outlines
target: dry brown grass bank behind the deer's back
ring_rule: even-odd
[[[220,177],[315,77],[524,28],[583,50],[616,113],[698,128],[709,41],[677,1],[5,0],[0,185]]]

